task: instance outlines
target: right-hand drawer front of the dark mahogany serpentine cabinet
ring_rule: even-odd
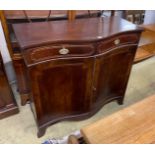
[[[126,45],[126,44],[137,44],[139,41],[139,35],[137,34],[126,34],[119,35],[117,37],[110,38],[108,40],[102,41],[97,46],[97,51],[102,53],[104,51],[110,50],[112,48]]]

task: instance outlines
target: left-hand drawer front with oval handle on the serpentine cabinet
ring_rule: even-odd
[[[94,53],[93,45],[56,45],[30,49],[24,55],[31,62],[39,62],[51,58],[64,58],[73,56],[88,56]]]

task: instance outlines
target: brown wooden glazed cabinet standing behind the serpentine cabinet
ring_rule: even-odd
[[[0,17],[7,46],[13,60],[17,75],[18,91],[21,97],[21,104],[25,105],[28,97],[28,89],[25,81],[25,68],[21,51],[12,30],[13,23],[38,22],[49,20],[75,20],[76,18],[89,18],[101,16],[101,10],[1,10]]]

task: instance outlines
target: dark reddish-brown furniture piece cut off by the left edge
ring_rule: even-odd
[[[2,57],[0,55],[0,119],[18,113],[11,87],[8,83]]]

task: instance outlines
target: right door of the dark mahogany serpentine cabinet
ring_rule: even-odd
[[[96,57],[93,100],[106,101],[124,96],[136,51],[135,45],[121,46]]]

